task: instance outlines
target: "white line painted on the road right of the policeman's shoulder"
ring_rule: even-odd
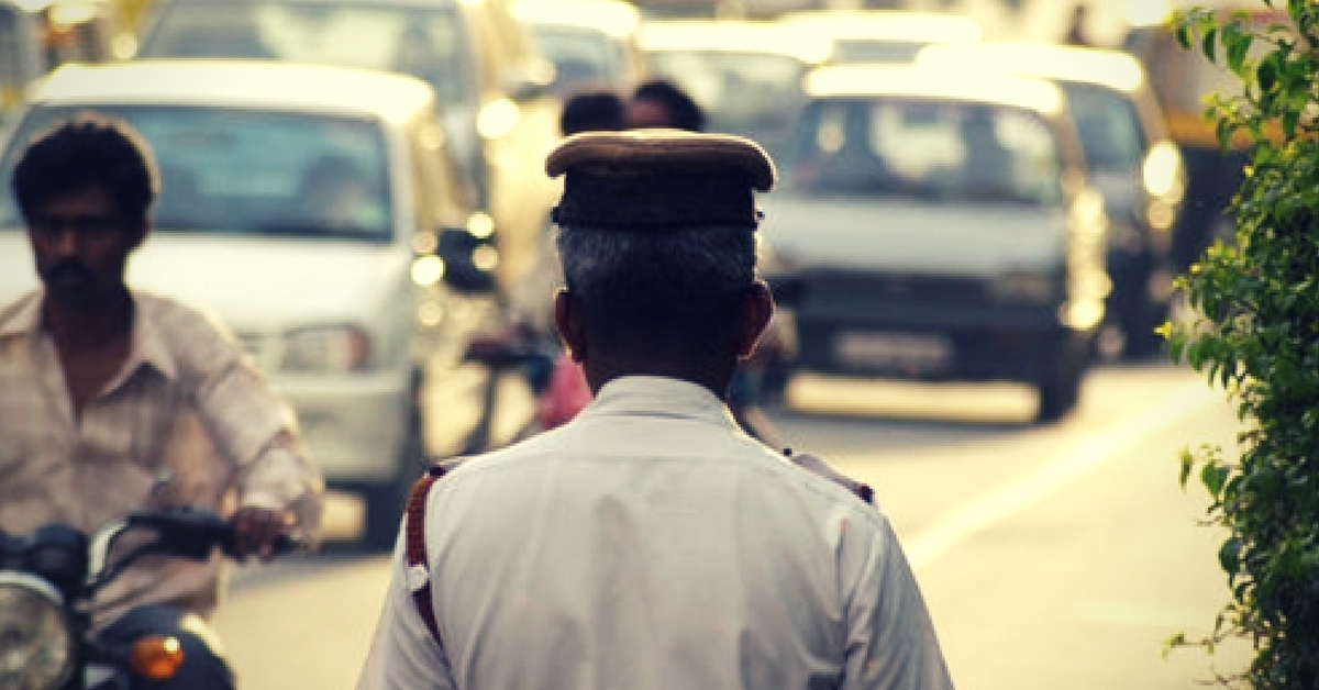
[[[1117,456],[1119,451],[1213,402],[1223,401],[1221,391],[1196,380],[1108,429],[1087,434],[1057,460],[951,513],[914,538],[905,540],[904,549],[911,567],[921,569],[930,565],[973,534],[1080,479],[1105,460]]]

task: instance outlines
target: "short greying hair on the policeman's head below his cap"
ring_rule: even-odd
[[[720,339],[756,280],[747,228],[565,228],[558,251],[568,293],[623,338]]]

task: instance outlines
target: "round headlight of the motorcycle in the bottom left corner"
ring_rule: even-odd
[[[0,690],[55,690],[77,666],[73,623],[45,580],[0,573]]]

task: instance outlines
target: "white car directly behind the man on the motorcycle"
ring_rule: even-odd
[[[422,458],[421,343],[446,327],[430,252],[489,226],[452,174],[434,91],[338,67],[66,66],[36,91],[0,169],[84,111],[127,120],[157,158],[154,230],[129,284],[227,323],[293,404],[328,484],[367,499],[365,540],[389,544]],[[38,285],[9,195],[0,228],[9,302]]]

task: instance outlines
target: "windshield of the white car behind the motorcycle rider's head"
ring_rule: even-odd
[[[77,108],[83,112],[86,108]],[[365,119],[204,107],[96,107],[146,140],[160,170],[160,232],[272,235],[386,243],[385,141]],[[33,108],[0,162],[73,108]],[[12,195],[0,227],[21,227]]]

